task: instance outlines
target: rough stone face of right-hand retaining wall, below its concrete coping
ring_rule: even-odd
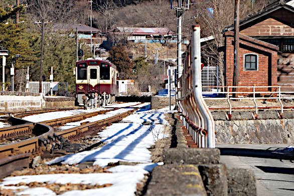
[[[294,142],[294,119],[217,120],[217,143],[276,144]]]

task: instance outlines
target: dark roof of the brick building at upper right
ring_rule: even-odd
[[[288,2],[288,1],[286,1]],[[244,20],[240,21],[240,31],[243,29],[246,29],[247,26],[251,23],[257,24],[263,20],[265,20],[266,18],[270,18],[268,17],[268,15],[272,14],[275,11],[278,11],[280,9],[284,9],[288,12],[294,13],[294,8],[290,5],[285,4],[285,1],[283,0],[279,0],[279,1],[274,1],[271,4],[267,5],[263,10],[261,10],[261,12],[257,13],[257,14],[252,14],[247,16]],[[282,22],[282,20],[280,20]],[[294,20],[293,19],[288,19],[288,21],[283,21],[284,23],[286,23],[287,25],[294,27]],[[249,25],[252,26],[252,25]],[[234,31],[234,24],[226,27],[223,32],[226,31]]]

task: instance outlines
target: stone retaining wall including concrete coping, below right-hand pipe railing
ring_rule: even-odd
[[[294,142],[294,112],[260,111],[258,119],[253,112],[233,112],[228,120],[226,112],[212,112],[215,120],[216,142],[233,144],[292,144]]]

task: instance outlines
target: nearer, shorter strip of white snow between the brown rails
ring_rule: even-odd
[[[90,118],[86,118],[86,119],[81,120],[81,121],[69,122],[69,123],[66,123],[64,126],[61,126],[61,127],[58,127],[58,128],[59,129],[70,129],[70,128],[73,128],[73,127],[76,127],[76,126],[80,126],[82,122],[95,122],[95,121],[98,121],[98,120],[109,118],[111,116],[115,116],[117,114],[121,114],[121,113],[126,112],[128,110],[132,110],[132,109],[130,109],[130,108],[117,109],[117,110],[114,110],[114,111],[106,112],[105,114],[99,114],[97,116],[92,116]]]

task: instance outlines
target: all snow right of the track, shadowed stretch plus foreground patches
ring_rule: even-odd
[[[146,105],[148,106],[148,105]],[[128,162],[138,162],[136,165],[118,165],[107,169],[112,173],[88,173],[88,174],[46,174],[27,175],[4,178],[0,186],[3,188],[13,188],[13,185],[20,182],[44,182],[49,183],[87,183],[100,185],[111,183],[113,185],[88,190],[67,191],[62,196],[72,195],[134,195],[136,184],[140,182],[144,174],[152,171],[159,164],[152,163],[149,147],[155,141],[167,136],[165,132],[168,122],[164,119],[164,114],[168,108],[161,110],[144,110],[135,112],[122,119],[119,123],[112,124],[104,131],[98,133],[99,140],[106,144],[100,148],[79,152],[63,157],[55,158],[48,164],[78,164],[84,161],[94,161],[93,164],[106,166],[109,162],[119,160]],[[97,139],[97,138],[96,138]],[[56,195],[46,188],[28,188],[17,195]],[[47,193],[47,194],[44,194]]]

